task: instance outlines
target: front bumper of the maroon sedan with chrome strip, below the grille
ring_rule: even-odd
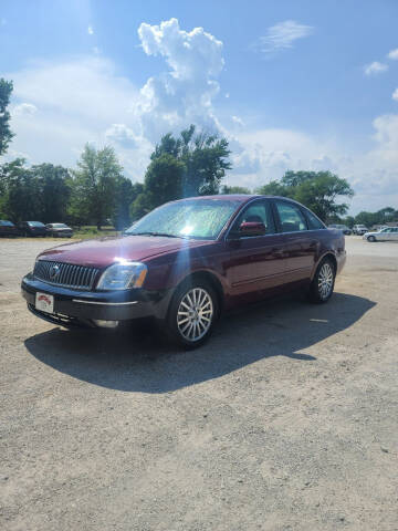
[[[54,296],[54,313],[35,310],[36,292]],[[59,324],[93,325],[94,320],[128,321],[154,316],[164,319],[171,296],[168,291],[146,291],[143,289],[95,292],[80,291],[48,284],[29,273],[21,283],[22,296],[29,310],[36,316]]]

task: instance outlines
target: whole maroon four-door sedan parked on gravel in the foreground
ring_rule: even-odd
[[[345,259],[342,231],[293,200],[206,196],[163,205],[124,237],[42,252],[22,293],[51,323],[116,327],[151,316],[195,347],[237,304],[296,288],[326,302]]]

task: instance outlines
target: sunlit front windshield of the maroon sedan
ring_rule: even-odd
[[[240,201],[186,199],[169,202],[136,221],[126,235],[214,240]]]

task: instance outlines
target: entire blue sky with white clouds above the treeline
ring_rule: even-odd
[[[332,169],[353,212],[398,208],[397,21],[395,0],[3,0],[8,156],[74,166],[112,144],[142,180],[160,135],[195,122],[230,139],[230,184]]]

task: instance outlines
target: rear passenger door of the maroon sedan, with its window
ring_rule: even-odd
[[[274,199],[273,205],[285,246],[286,282],[308,280],[320,247],[317,230],[310,230],[300,205],[283,199]]]

